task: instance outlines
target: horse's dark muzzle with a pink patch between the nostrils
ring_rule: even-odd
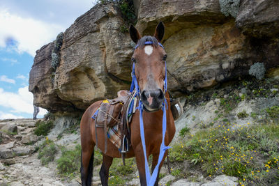
[[[144,90],[140,94],[142,104],[146,111],[158,111],[162,108],[165,95],[161,89]]]

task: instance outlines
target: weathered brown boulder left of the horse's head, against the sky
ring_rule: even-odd
[[[50,111],[84,110],[127,89],[133,47],[128,34],[119,32],[122,24],[114,3],[99,4],[63,33],[56,70],[52,67],[54,42],[38,50],[29,79],[34,104]]]

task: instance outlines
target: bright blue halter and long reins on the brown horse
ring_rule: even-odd
[[[153,42],[151,41],[146,41],[144,43],[145,45],[152,45]],[[163,47],[162,44],[160,44],[160,47]],[[137,49],[139,45],[135,46],[135,49]],[[163,47],[164,48],[164,47]],[[137,95],[140,95],[140,87],[137,84],[137,77],[135,77],[135,63],[133,63],[133,71],[132,71],[132,84],[130,86],[130,92],[133,92],[134,89],[135,91],[137,91]],[[164,93],[166,93],[167,91],[167,63],[165,61],[165,80],[164,80]],[[165,100],[163,101],[163,105],[162,105],[162,109],[163,109],[163,139],[162,139],[162,143],[160,145],[160,153],[159,153],[159,157],[158,157],[158,163],[156,164],[155,169],[153,170],[153,173],[151,175],[150,171],[149,171],[149,164],[147,161],[147,156],[146,156],[146,145],[145,145],[145,137],[144,137],[144,122],[143,122],[143,118],[142,118],[142,112],[144,110],[143,108],[143,104],[142,104],[142,100],[139,100],[139,107],[137,107],[137,109],[140,110],[140,137],[142,139],[142,148],[144,150],[144,161],[145,161],[145,176],[146,176],[146,183],[147,186],[153,186],[156,182],[156,178],[158,175],[158,171],[159,171],[159,166],[160,166],[160,162],[162,162],[164,154],[165,154],[165,150],[171,148],[169,146],[165,146],[165,132],[166,132],[166,128],[167,128],[167,116],[166,116],[166,109],[167,109],[167,100],[165,98]]]

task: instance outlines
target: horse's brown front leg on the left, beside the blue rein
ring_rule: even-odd
[[[144,153],[142,150],[142,144],[139,144],[137,148],[135,148],[135,160],[137,162],[137,169],[139,170],[140,185],[146,186],[145,162],[144,162]]]

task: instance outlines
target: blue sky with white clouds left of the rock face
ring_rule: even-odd
[[[29,72],[36,50],[55,40],[96,0],[0,0],[0,119],[32,118]],[[47,110],[40,108],[38,118]]]

